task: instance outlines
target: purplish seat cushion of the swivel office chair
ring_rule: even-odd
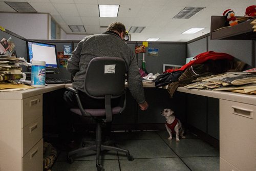
[[[121,109],[122,108],[120,106],[112,108],[112,115],[119,114]],[[82,115],[80,109],[70,109],[70,111],[77,115]],[[105,109],[84,109],[84,111],[90,113],[92,116],[105,116],[106,115]]]

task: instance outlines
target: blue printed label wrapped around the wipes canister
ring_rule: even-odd
[[[31,67],[31,84],[45,85],[46,83],[46,67],[32,66]]]

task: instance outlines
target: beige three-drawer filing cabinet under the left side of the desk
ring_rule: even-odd
[[[0,103],[0,170],[42,170],[42,95]]]

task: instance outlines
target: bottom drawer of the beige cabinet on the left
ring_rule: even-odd
[[[43,140],[41,139],[26,156],[23,157],[23,171],[43,169]]]

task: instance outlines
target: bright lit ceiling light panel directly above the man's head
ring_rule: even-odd
[[[99,5],[99,17],[117,17],[119,5]]]

